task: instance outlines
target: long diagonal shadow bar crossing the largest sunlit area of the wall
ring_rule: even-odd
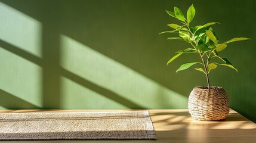
[[[104,97],[109,98],[110,100],[118,102],[119,104],[125,105],[128,108],[145,109],[141,105],[135,104],[134,102],[129,101],[128,99],[126,99],[124,97],[121,97],[120,95],[116,94],[113,91],[110,91],[109,89],[95,85],[95,83],[92,83],[92,82],[90,82],[90,81],[70,72],[70,71],[63,69],[63,67],[60,67],[60,74],[62,74],[62,76],[64,76],[64,77],[67,77],[68,79],[72,80],[73,82],[76,82],[76,83],[84,86],[85,88],[89,88],[92,91],[95,91],[98,94],[101,94]]]

